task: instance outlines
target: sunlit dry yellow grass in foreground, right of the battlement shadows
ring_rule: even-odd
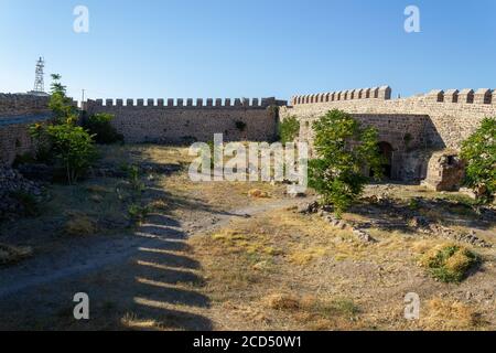
[[[373,234],[379,242],[364,244],[316,215],[280,210],[233,222],[191,243],[204,266],[217,329],[494,329],[494,250],[477,249],[487,258],[485,270],[449,286],[418,264],[445,240],[380,229]],[[467,299],[467,292],[486,290],[484,300]],[[420,321],[402,317],[410,291],[421,297]]]

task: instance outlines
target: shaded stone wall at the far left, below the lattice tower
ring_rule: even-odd
[[[0,163],[32,151],[29,126],[51,118],[47,96],[0,94]]]

